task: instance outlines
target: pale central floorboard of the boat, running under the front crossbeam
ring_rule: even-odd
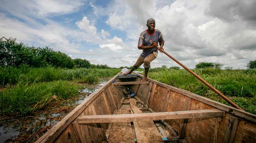
[[[136,100],[134,98],[129,99],[129,101],[134,113],[137,115],[144,114],[136,106]],[[163,143],[160,133],[153,121],[134,121],[133,123],[137,143]]]

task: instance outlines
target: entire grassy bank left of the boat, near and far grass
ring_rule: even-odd
[[[56,100],[78,95],[79,83],[93,84],[119,69],[0,68],[0,115],[26,116]]]

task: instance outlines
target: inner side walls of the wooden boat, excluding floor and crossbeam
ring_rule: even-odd
[[[36,143],[102,143],[108,140],[110,123],[80,124],[85,115],[112,115],[125,99],[121,87],[129,87],[141,104],[151,112],[218,109],[223,117],[180,118],[164,120],[177,134],[176,140],[187,143],[253,143],[256,140],[256,116],[199,95],[148,79],[142,75],[117,74],[76,109],[39,138]],[[122,82],[125,82],[122,84]]]

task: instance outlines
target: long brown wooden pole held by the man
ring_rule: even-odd
[[[158,48],[158,47],[157,47]],[[160,50],[158,48],[158,50]],[[237,106],[233,101],[231,101],[229,98],[227,98],[225,95],[223,95],[220,91],[216,90],[211,84],[209,84],[207,81],[205,81],[204,79],[202,79],[200,76],[198,76],[196,73],[194,73],[192,70],[190,70],[189,68],[187,68],[185,65],[183,65],[182,63],[180,63],[177,59],[175,59],[174,57],[172,57],[171,55],[169,55],[169,53],[166,53],[166,51],[164,50],[160,50],[160,52],[166,54],[166,56],[169,56],[169,58],[171,58],[172,60],[174,60],[175,62],[177,62],[177,64],[180,64],[181,67],[183,67],[184,69],[186,69],[189,73],[191,73],[193,76],[195,76],[197,79],[199,79],[200,81],[202,81],[207,87],[209,87],[211,90],[213,90],[215,93],[217,93],[218,95],[221,96],[221,98],[223,98],[225,101],[227,101],[231,106],[242,110],[239,106]]]

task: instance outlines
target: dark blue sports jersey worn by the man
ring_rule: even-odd
[[[145,45],[145,46],[152,45],[153,42],[164,42],[163,35],[162,35],[161,31],[159,31],[158,29],[155,29],[153,34],[149,34],[148,30],[143,31],[140,34],[138,47],[141,47],[143,45]],[[145,58],[146,56],[153,53],[154,51],[157,52],[156,47],[143,50],[142,53],[140,54],[140,56]]]

